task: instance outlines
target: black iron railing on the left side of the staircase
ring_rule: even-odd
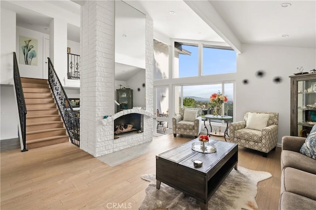
[[[26,105],[24,99],[24,93],[22,89],[22,83],[20,78],[19,66],[16,60],[15,52],[13,52],[13,79],[14,79],[14,87],[15,87],[15,95],[16,101],[19,110],[19,117],[20,117],[20,126],[21,126],[21,135],[22,142],[23,142],[23,150],[21,151],[28,151],[26,149]]]

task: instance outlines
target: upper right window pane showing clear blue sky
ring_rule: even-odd
[[[202,75],[236,72],[236,52],[203,46]]]

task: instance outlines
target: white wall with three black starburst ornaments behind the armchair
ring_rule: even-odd
[[[243,44],[242,54],[237,55],[235,119],[240,121],[246,111],[277,112],[279,114],[278,144],[284,135],[290,135],[290,79],[297,67],[304,71],[316,67],[316,50]],[[263,78],[256,77],[258,70],[265,71]],[[279,76],[281,83],[274,83]],[[249,84],[244,85],[243,79]]]

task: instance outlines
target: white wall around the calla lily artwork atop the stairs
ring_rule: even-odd
[[[37,57],[38,57],[38,65],[34,66],[34,65],[26,65],[23,63],[19,63],[19,58],[20,56],[20,46],[19,46],[19,39],[20,39],[20,35],[22,36],[27,36],[30,38],[35,38],[38,40],[38,50],[37,50]],[[18,64],[19,64],[19,70],[20,70],[20,76],[21,77],[30,77],[30,78],[39,78],[39,79],[43,79],[43,63],[46,61],[44,61],[44,54],[43,54],[43,43],[44,43],[44,38],[49,39],[49,35],[46,33],[41,33],[35,30],[29,30],[29,29],[25,29],[22,27],[16,27],[16,57],[18,60]],[[45,71],[47,71],[45,69]]]

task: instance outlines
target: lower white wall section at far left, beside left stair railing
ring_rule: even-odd
[[[18,138],[18,108],[13,85],[1,85],[0,140]]]

